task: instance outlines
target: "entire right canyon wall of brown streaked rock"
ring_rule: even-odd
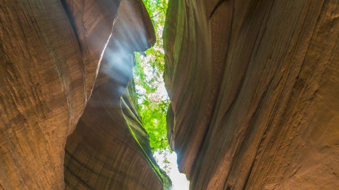
[[[339,187],[339,1],[169,1],[168,138],[191,190]]]

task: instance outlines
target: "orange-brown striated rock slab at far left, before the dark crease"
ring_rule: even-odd
[[[85,67],[58,0],[0,1],[0,189],[63,188]]]

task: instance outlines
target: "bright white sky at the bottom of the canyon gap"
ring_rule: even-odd
[[[154,157],[159,161],[158,164],[161,168],[164,168],[164,156],[158,152],[154,152]],[[178,165],[176,164],[176,153],[173,151],[168,156],[169,166],[171,170],[169,171],[169,178],[172,181],[171,190],[189,190],[189,181],[187,181],[185,174],[181,174],[178,170]]]

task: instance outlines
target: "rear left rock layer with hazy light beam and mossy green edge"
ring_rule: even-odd
[[[168,177],[152,156],[132,81],[134,51],[144,51],[154,42],[154,29],[142,2],[121,1],[92,96],[67,139],[66,189],[169,188]]]

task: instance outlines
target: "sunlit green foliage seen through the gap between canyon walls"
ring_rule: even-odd
[[[168,0],[143,0],[156,32],[156,44],[146,50],[147,57],[135,53],[134,81],[138,96],[138,107],[141,120],[150,136],[154,151],[163,152],[169,148],[166,129],[166,112],[169,98],[159,92],[164,86],[164,49],[162,32]]]

